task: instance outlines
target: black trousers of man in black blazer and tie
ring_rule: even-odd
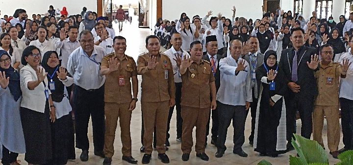
[[[314,109],[314,97],[299,97],[298,94],[291,93],[284,97],[286,104],[287,119],[287,146],[291,146],[293,134],[296,132],[296,113],[299,111],[302,120],[301,134],[304,138],[310,139],[312,133],[312,112]]]

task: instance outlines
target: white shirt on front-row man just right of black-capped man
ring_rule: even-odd
[[[242,58],[238,60],[240,59]],[[245,71],[239,71],[235,75],[237,66],[237,62],[231,56],[220,60],[221,86],[216,99],[223,104],[244,106],[246,101],[252,102],[250,67],[249,63],[245,61],[245,66],[247,66]]]

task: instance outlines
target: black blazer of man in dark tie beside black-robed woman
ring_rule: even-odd
[[[282,50],[281,58],[278,64],[278,71],[282,73],[283,81],[285,84],[291,82],[292,79],[292,64],[293,64],[293,51],[294,47],[286,48]],[[314,72],[320,69],[320,66],[316,70],[310,69],[306,62],[311,61],[311,55],[316,53],[316,49],[312,47],[305,47],[299,54],[299,60],[303,57],[302,61],[298,66],[298,81],[296,84],[301,86],[300,92],[298,93],[301,98],[315,98],[318,94],[317,84],[314,76]],[[288,60],[289,59],[289,60]],[[289,61],[289,64],[288,64]],[[289,68],[290,67],[290,68]],[[293,94],[292,90],[288,90],[288,94]],[[310,97],[308,97],[310,96]],[[314,101],[314,100],[313,100]]]

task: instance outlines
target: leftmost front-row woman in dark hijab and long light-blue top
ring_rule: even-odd
[[[18,153],[25,153],[20,104],[20,74],[11,67],[11,57],[0,50],[0,157],[2,165],[20,165]],[[2,151],[2,152],[1,152]]]

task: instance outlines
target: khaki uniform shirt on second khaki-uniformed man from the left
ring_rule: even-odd
[[[154,69],[148,70],[149,53],[137,59],[137,72],[142,75],[141,101],[159,102],[175,98],[175,84],[172,63],[166,54],[157,56]]]

